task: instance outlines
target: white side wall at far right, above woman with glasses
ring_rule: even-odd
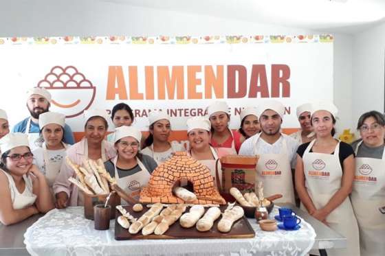
[[[353,120],[369,110],[384,112],[385,22],[354,36]]]

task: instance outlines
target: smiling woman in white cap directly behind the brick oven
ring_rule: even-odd
[[[206,165],[210,169],[211,175],[215,178],[217,184],[222,181],[221,165],[219,163],[219,177],[215,172],[215,163],[221,156],[231,154],[230,148],[213,148],[210,146],[211,123],[204,117],[192,117],[187,120],[187,137],[190,143],[188,153],[193,159]],[[220,185],[220,184],[219,184]]]

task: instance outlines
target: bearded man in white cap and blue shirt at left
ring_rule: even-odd
[[[12,132],[24,132],[28,134],[28,141],[30,141],[30,148],[39,148],[43,139],[40,139],[39,115],[45,113],[50,109],[51,93],[45,88],[34,87],[27,91],[28,100],[27,108],[31,116],[25,118],[16,124]],[[67,144],[74,144],[74,135],[71,128],[65,124],[64,139]]]

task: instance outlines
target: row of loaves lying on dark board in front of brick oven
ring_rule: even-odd
[[[169,227],[179,220],[179,224],[188,229],[192,226],[196,226],[198,231],[210,231],[214,225],[214,221],[222,216],[218,222],[217,229],[220,232],[230,232],[232,225],[236,220],[243,217],[244,211],[242,207],[234,206],[234,204],[228,205],[223,213],[219,207],[210,207],[206,213],[203,205],[193,205],[190,210],[185,213],[187,205],[175,204],[164,205],[156,203],[146,211],[139,219],[132,218],[127,215],[126,210],[122,207],[117,207],[122,213],[122,216],[118,217],[118,223],[124,229],[128,229],[129,233],[137,234],[142,230],[142,235],[163,235]],[[131,221],[131,224],[129,223]]]

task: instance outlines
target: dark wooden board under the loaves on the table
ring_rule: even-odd
[[[220,207],[223,212],[227,206],[223,205]],[[126,211],[129,211],[132,216],[135,218],[140,218],[148,208],[144,207],[143,211],[136,213],[132,210],[131,206],[124,206]],[[207,211],[209,208],[205,208]],[[190,207],[188,207],[185,211],[190,211]],[[200,232],[197,231],[195,226],[192,226],[189,229],[185,229],[179,224],[179,220],[172,224],[168,231],[163,235],[142,235],[142,231],[139,231],[137,234],[132,235],[129,233],[128,229],[123,229],[122,226],[118,223],[118,216],[122,214],[120,211],[116,210],[115,216],[115,240],[138,240],[138,239],[188,239],[188,238],[252,238],[255,236],[255,232],[252,229],[248,219],[243,216],[241,219],[237,220],[233,225],[232,229],[229,233],[221,233],[217,229],[217,224],[221,217],[219,217],[212,226],[210,231]]]

